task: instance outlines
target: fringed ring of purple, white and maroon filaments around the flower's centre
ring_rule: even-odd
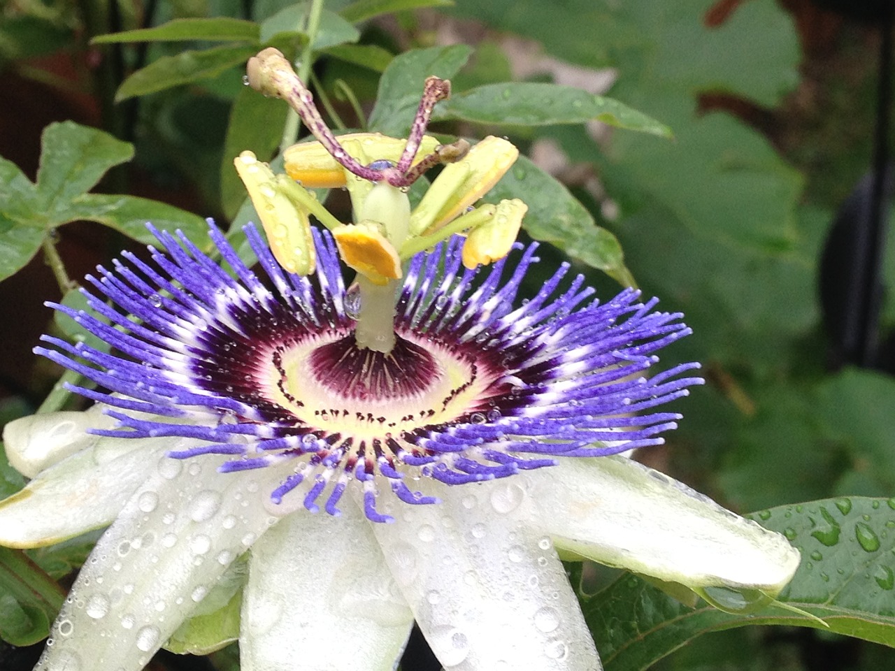
[[[303,277],[280,268],[251,225],[261,276],[214,226],[229,272],[183,234],[150,230],[165,250],[150,248],[153,264],[124,254],[88,277],[95,314],[51,304],[112,352],[51,336],[35,352],[99,386],[70,387],[111,406],[119,426],[99,435],[193,438],[200,445],[170,456],[224,454],[225,472],[291,460],[275,504],[302,497],[339,514],[356,486],[367,516],[387,522],[382,490],[437,503],[408,475],[461,485],[661,444],[679,415],[658,407],[702,383],[686,376],[695,363],[647,377],[656,352],[690,329],[635,290],[600,303],[563,264],[517,302],[536,244],[516,245],[483,277],[462,267],[461,238],[415,256],[384,354],[354,342],[327,233],[314,232],[318,266]]]

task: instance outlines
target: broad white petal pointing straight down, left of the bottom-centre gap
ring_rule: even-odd
[[[413,615],[360,510],[303,508],[251,548],[243,671],[391,671]]]

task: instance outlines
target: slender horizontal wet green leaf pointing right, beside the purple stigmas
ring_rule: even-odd
[[[452,95],[435,107],[432,117],[526,126],[601,121],[629,131],[671,136],[668,126],[618,100],[571,86],[530,81],[488,84]]]

